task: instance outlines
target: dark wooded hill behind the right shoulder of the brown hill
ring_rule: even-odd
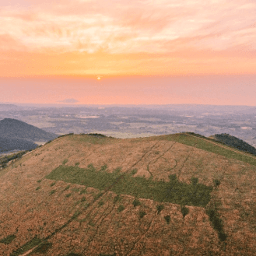
[[[233,148],[239,149],[246,153],[251,153],[254,156],[256,156],[256,149],[253,146],[251,146],[247,142],[244,142],[241,139],[238,139],[235,136],[231,136],[229,134],[222,133],[220,135],[216,134],[216,135],[210,136],[209,138],[215,139],[218,142],[223,142],[227,146],[232,146]]]

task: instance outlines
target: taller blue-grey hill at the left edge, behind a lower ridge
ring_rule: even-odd
[[[5,139],[25,139],[30,142],[47,142],[57,138],[58,135],[45,132],[23,121],[5,118],[0,121],[0,137]]]

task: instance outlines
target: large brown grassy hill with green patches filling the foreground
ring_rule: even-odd
[[[0,255],[254,255],[256,158],[194,135],[65,135],[0,171]]]

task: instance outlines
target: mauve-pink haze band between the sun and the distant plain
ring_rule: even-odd
[[[0,102],[255,106],[255,85],[256,75],[2,78]]]

